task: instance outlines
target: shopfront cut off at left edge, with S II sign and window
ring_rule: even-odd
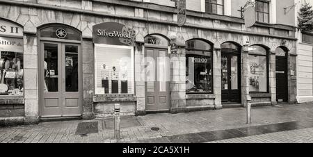
[[[23,28],[0,19],[0,117],[24,116]]]

